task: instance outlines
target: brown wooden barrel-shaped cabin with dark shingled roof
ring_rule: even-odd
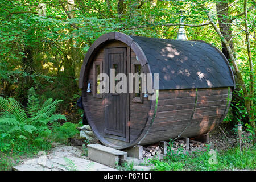
[[[97,75],[110,68],[125,74],[159,73],[155,99],[141,92],[98,94]],[[97,138],[123,149],[209,133],[228,112],[235,82],[226,57],[208,43],[110,32],[88,49],[79,86]]]

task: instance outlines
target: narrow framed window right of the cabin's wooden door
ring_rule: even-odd
[[[138,75],[141,75],[141,73],[143,73],[143,70],[141,68],[141,64],[139,63],[139,61],[138,62],[133,61],[133,64],[131,65],[131,71],[134,74],[138,73]],[[138,81],[139,81],[139,84],[137,86],[138,86],[139,92],[137,92],[137,93],[135,93],[135,87],[136,87],[135,79],[133,81],[133,100],[132,100],[132,102],[142,103],[143,102],[142,78],[140,77]]]

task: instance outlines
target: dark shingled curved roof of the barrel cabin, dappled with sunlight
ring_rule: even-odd
[[[159,89],[234,87],[228,61],[210,44],[131,36],[142,48]],[[154,75],[153,75],[154,76]]]

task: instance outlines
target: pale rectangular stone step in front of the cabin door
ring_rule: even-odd
[[[127,152],[121,150],[102,146],[101,144],[89,144],[87,147],[89,159],[106,166],[115,167],[118,165],[119,159],[127,159]]]

